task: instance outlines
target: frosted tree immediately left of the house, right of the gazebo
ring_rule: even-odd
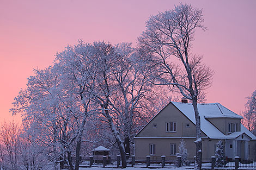
[[[121,43],[114,47],[118,60],[111,68],[114,81],[117,82],[117,102],[113,106],[119,115],[120,128],[124,135],[125,152],[131,153],[130,142],[138,131],[139,121],[144,116],[145,104],[155,101],[157,97],[150,82],[153,66],[145,58],[145,54],[136,51],[131,43]],[[156,104],[157,105],[157,104]],[[152,108],[152,107],[151,107]]]

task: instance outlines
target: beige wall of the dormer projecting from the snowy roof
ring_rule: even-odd
[[[238,131],[241,131],[241,123],[239,118],[207,118],[218,130],[228,135],[228,123],[237,123]]]

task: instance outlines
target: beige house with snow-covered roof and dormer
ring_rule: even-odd
[[[180,140],[186,142],[188,158],[196,155],[196,125],[193,105],[170,102],[135,135],[137,158],[174,158]],[[198,104],[202,132],[203,159],[215,155],[216,143],[223,140],[227,159],[255,158],[256,137],[241,124],[240,115],[220,103]]]

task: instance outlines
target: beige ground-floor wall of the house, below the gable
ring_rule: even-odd
[[[188,158],[193,159],[196,155],[196,144],[194,141],[196,138],[184,138],[186,143],[186,148],[188,152]],[[205,138],[202,140],[202,150],[203,150],[203,159],[210,159],[211,156],[214,156],[215,153],[215,144],[218,140],[209,140]],[[135,139],[135,155],[136,159],[144,160],[146,156],[149,155],[149,145],[156,145],[156,154],[150,155],[151,159],[161,160],[161,156],[165,155],[167,158],[176,158],[175,155],[170,155],[170,144],[176,144],[176,153],[178,153],[178,146],[180,144],[179,138],[136,138]],[[205,152],[204,152],[205,151]]]

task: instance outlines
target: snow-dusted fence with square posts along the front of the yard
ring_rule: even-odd
[[[148,159],[147,159],[148,158]],[[240,159],[238,157],[233,161],[228,161],[225,163],[224,167],[215,167],[215,156],[211,159],[202,159],[202,169],[255,169],[256,170],[256,160],[255,159]],[[214,165],[214,166],[213,166]],[[146,158],[138,158],[135,156],[130,156],[127,159],[127,167],[148,167],[148,168],[174,168],[174,167],[184,167],[193,168],[194,159],[187,159],[184,165],[181,165],[181,159],[179,156],[176,158],[170,156],[147,156]],[[93,156],[86,158],[82,161],[80,167],[111,167],[117,168],[121,167],[121,156],[116,158],[111,158],[105,160],[103,163],[94,162]]]

